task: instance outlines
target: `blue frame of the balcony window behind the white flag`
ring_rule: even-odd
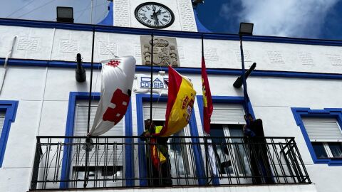
[[[100,92],[93,92],[92,100],[100,100]],[[66,136],[73,136],[73,128],[75,122],[75,111],[76,111],[76,101],[77,100],[89,100],[89,92],[70,92],[69,94],[69,104],[68,104],[68,117],[66,119]],[[132,124],[132,107],[131,102],[128,105],[128,109],[125,113],[125,135],[132,136],[133,135],[133,124]],[[65,143],[70,142],[69,139],[65,139]],[[126,138],[126,143],[132,143],[133,139]],[[64,151],[69,151],[69,154],[63,154],[63,162],[62,162],[62,173],[61,173],[61,181],[67,180],[69,177],[69,170],[71,169],[71,150],[68,150],[68,146]],[[126,186],[133,186],[134,178],[134,168],[133,168],[133,149],[132,146],[125,146],[125,179]],[[61,182],[60,188],[68,188],[68,183]]]

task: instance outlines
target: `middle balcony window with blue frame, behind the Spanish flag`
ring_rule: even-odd
[[[152,101],[155,103],[164,103],[163,106],[157,106],[153,105],[155,109],[153,109],[153,120],[154,121],[159,121],[162,122],[162,124],[165,122],[165,112],[166,112],[166,102],[167,102],[167,97],[160,97],[159,95],[153,95]],[[138,135],[142,134],[144,131],[144,119],[150,119],[150,95],[145,95],[145,94],[137,94],[136,95],[136,103],[137,103],[137,125],[138,125]],[[145,103],[145,105],[144,105]],[[148,105],[147,105],[148,103]],[[145,107],[144,107],[145,106]],[[159,107],[159,108],[158,108]],[[195,117],[195,112],[192,112],[192,115],[190,117],[190,122],[188,127],[183,129],[185,132],[182,134],[188,135],[188,136],[193,136],[196,137],[198,136],[198,131],[197,131],[197,124],[196,124],[196,117]],[[177,171],[175,170],[176,173],[178,173],[177,178],[173,178],[172,176],[172,183],[177,183],[181,184],[182,182],[188,182],[188,183],[194,183],[194,184],[205,184],[207,181],[204,181],[204,166],[203,166],[203,160],[202,160],[202,155],[201,151],[199,149],[199,146],[193,143],[198,143],[198,139],[196,138],[191,138],[189,140],[185,140],[187,142],[187,150],[184,150],[182,147],[176,146],[170,146],[171,139],[169,139],[169,150],[172,150],[172,156],[177,158],[177,160],[173,160],[176,162],[182,161],[182,164],[177,165],[183,167],[182,170],[184,171]],[[188,142],[189,141],[189,142]],[[138,157],[135,157],[135,164],[139,165],[139,178],[140,179],[140,186],[147,186],[149,183],[147,181],[147,169],[146,169],[146,152],[145,152],[145,142],[140,141],[138,139],[139,147],[138,147]],[[174,143],[177,144],[177,143]],[[190,150],[190,151],[189,151]],[[169,153],[170,154],[170,153]],[[171,156],[171,155],[170,155]],[[170,159],[172,158],[170,157]],[[182,158],[182,160],[181,160]],[[183,161],[184,160],[184,161]],[[187,164],[190,164],[190,166],[185,166]],[[176,166],[176,164],[172,164],[173,167]],[[190,168],[191,167],[191,168]],[[172,169],[172,167],[171,167]],[[178,169],[180,170],[180,169]],[[190,173],[188,172],[190,171]],[[180,173],[184,173],[180,174]],[[174,172],[175,173],[175,172]],[[182,179],[182,176],[190,176],[192,175],[193,178],[188,178],[188,179]],[[199,179],[198,179],[199,178]],[[193,182],[192,182],[193,181]]]

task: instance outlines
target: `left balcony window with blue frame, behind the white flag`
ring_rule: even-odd
[[[93,124],[98,100],[100,100],[99,92],[93,92],[92,95],[93,101],[90,107],[90,127]],[[66,122],[67,137],[86,136],[88,125],[88,99],[88,92],[70,92]],[[115,125],[115,127],[119,129],[110,129],[110,131],[104,135],[132,136],[131,105],[128,105],[125,117],[121,119],[120,123]],[[86,161],[86,153],[84,152],[84,148],[86,148],[84,143],[86,142],[84,140],[85,139],[79,138],[65,139],[65,143],[73,143],[73,145],[66,145],[63,148],[62,181],[84,178],[84,164]],[[130,144],[125,145],[125,143],[132,143],[133,139],[129,137],[119,137],[119,140],[120,143],[115,139],[93,139],[94,147],[89,153],[89,169],[93,172],[90,174],[90,179],[93,179],[93,181],[88,182],[88,186],[133,186],[133,180],[130,180],[134,178],[133,158],[131,158],[131,156],[133,156],[133,147]],[[109,144],[109,142],[111,143]],[[97,158],[95,158],[96,156]],[[123,180],[115,178],[126,178],[128,180],[123,183]],[[107,181],[104,181],[105,179]],[[108,179],[111,180],[111,182],[109,182]],[[73,187],[83,187],[82,182],[61,182],[60,188],[68,188],[69,185],[73,185]]]

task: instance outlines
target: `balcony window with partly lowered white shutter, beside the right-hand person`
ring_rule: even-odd
[[[243,106],[224,103],[214,103],[213,105],[214,111],[210,124],[211,136],[243,137],[243,127],[246,124]],[[243,143],[242,138],[213,139],[212,144],[214,144],[214,151],[216,150],[216,166],[220,174],[225,174],[225,176],[251,175]]]

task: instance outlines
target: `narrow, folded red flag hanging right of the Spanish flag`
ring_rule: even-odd
[[[203,129],[210,134],[210,117],[212,117],[212,93],[210,92],[205,60],[202,56],[202,90],[203,90]]]

